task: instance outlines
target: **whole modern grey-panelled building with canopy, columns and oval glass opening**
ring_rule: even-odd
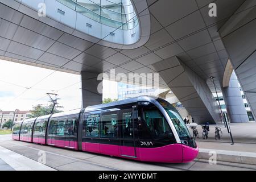
[[[0,0],[0,58],[80,74],[84,107],[99,73],[159,73],[197,123],[221,122],[215,88],[244,122],[229,85],[234,70],[255,118],[255,18],[254,0]]]

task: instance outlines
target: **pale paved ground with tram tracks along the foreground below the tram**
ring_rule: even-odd
[[[213,143],[213,142],[212,142]],[[198,142],[199,147],[208,147],[214,150],[225,149],[223,146],[212,146],[205,142]],[[230,145],[229,143],[227,145]],[[241,148],[246,150],[245,146],[235,145],[237,151]],[[59,171],[183,171],[183,170],[256,170],[255,165],[221,161],[217,159],[216,165],[209,163],[208,158],[200,157],[207,148],[200,148],[199,158],[189,163],[146,163],[137,162],[134,160],[127,160],[121,158],[114,158],[107,155],[94,154],[90,152],[73,151],[64,148],[56,148],[51,146],[43,146],[40,144],[33,144],[27,142],[18,142],[11,140],[11,135],[0,136],[0,158],[14,170],[59,170]],[[213,148],[214,147],[214,148]],[[253,150],[253,148],[250,148]],[[232,151],[227,151],[232,152]],[[234,152],[234,151],[233,151]],[[40,160],[42,154],[45,155],[45,161]],[[1,163],[0,163],[1,166]],[[6,166],[5,166],[6,167]],[[0,168],[1,169],[1,168]],[[4,169],[4,168],[3,168]],[[7,169],[7,168],[6,168]],[[4,169],[5,170],[5,169]]]

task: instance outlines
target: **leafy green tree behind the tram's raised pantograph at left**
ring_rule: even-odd
[[[52,110],[52,104],[48,107],[44,107],[42,104],[38,104],[36,106],[33,106],[33,109],[31,110],[31,115],[29,115],[29,118],[36,118],[43,115],[47,115],[51,113]],[[53,113],[60,113],[61,110],[57,110],[56,108],[63,108],[62,106],[56,105],[55,109],[53,110]]]

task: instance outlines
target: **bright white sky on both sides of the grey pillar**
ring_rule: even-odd
[[[64,107],[61,110],[81,108],[80,80],[80,75],[0,60],[0,109],[47,106],[50,102],[46,93],[58,94],[58,102]],[[117,82],[104,80],[103,88],[103,98],[117,98]]]

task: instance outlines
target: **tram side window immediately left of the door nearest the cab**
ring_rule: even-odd
[[[117,114],[102,115],[101,137],[117,138]]]

